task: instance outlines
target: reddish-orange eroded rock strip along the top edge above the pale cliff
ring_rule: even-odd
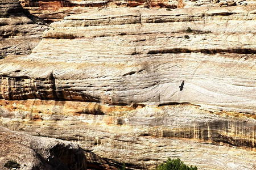
[[[102,8],[117,7],[137,7],[137,8],[189,8],[198,6],[246,6],[255,5],[255,1],[249,0],[19,0],[22,6],[32,14],[44,19],[47,23],[52,23],[63,19],[65,16],[81,14]]]

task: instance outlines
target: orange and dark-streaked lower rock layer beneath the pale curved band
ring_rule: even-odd
[[[77,142],[87,152],[88,168],[117,169],[126,163],[127,168],[150,169],[168,157],[200,169],[256,166],[255,115],[206,111],[190,104],[135,109],[79,101],[1,100],[0,105],[1,125]]]

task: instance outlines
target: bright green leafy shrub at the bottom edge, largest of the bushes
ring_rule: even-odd
[[[197,170],[197,167],[188,167],[179,158],[168,158],[166,163],[159,164],[155,170]]]

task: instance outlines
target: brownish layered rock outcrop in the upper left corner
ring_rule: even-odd
[[[31,53],[46,28],[43,20],[25,11],[18,0],[1,1],[0,58]]]

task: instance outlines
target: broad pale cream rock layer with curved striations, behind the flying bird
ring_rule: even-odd
[[[51,24],[30,56],[0,61],[0,99],[192,103],[255,113],[255,14],[237,10],[68,16]]]

